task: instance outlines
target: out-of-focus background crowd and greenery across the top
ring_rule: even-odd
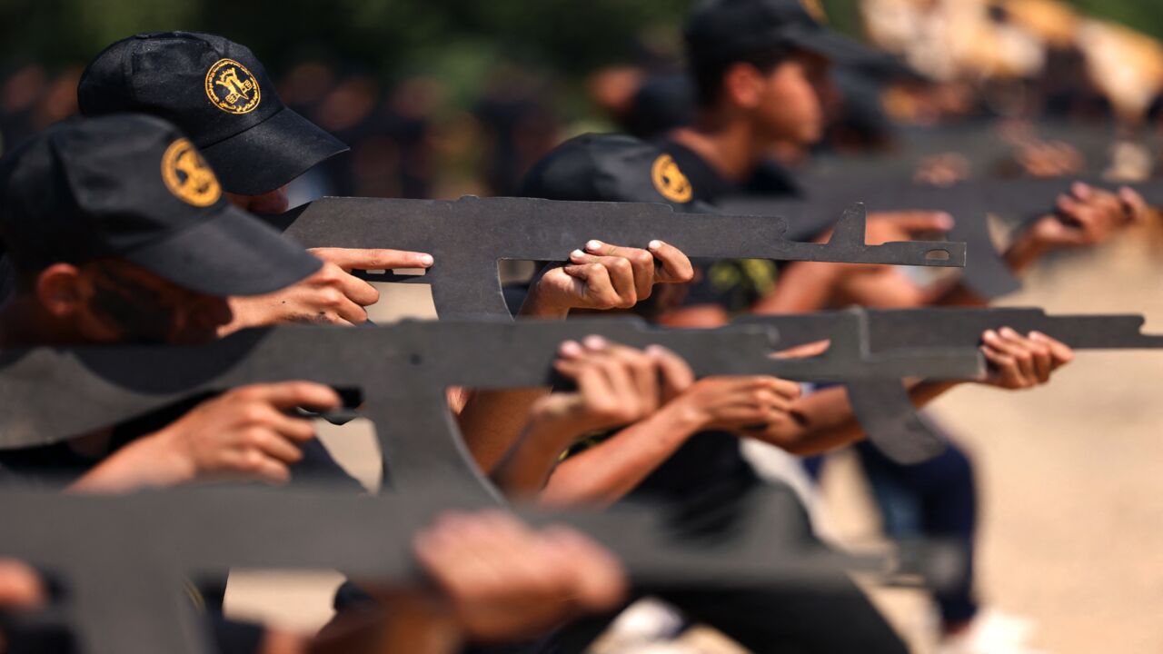
[[[907,148],[918,128],[990,121],[1006,144],[987,161],[993,173],[1141,178],[1157,168],[1157,150],[1144,147],[1163,125],[1154,2],[808,3],[892,55],[834,71],[823,154],[883,154]],[[81,62],[105,44],[185,24],[250,44],[290,106],[352,145],[354,156],[301,180],[305,196],[512,194],[569,136],[650,137],[687,120],[687,5],[0,0],[0,150],[76,111]],[[956,179],[982,165],[950,138],[928,145],[919,175]]]

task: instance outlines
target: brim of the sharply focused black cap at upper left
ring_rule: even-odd
[[[322,128],[284,107],[226,141],[199,148],[222,187],[262,196],[290,183],[348,147]]]

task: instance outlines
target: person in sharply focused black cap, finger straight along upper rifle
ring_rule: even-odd
[[[85,70],[78,99],[86,115],[134,111],[173,121],[205,151],[230,201],[263,214],[285,211],[281,187],[347,149],[281,104],[248,48],[211,34],[170,31],[119,41]],[[572,308],[633,306],[655,284],[683,283],[693,275],[683,253],[662,241],[649,251],[595,241],[584,248],[570,265],[543,271],[521,315],[559,319]],[[324,260],[322,270],[278,293],[231,298],[235,318],[222,330],[299,320],[364,322],[364,307],[379,293],[351,270],[434,264],[430,255],[398,250],[313,253]],[[462,432],[485,470],[508,450],[530,405],[544,392],[457,398]]]

